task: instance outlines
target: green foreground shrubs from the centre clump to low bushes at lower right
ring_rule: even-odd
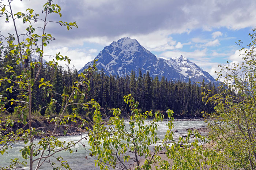
[[[139,113],[139,103],[131,95],[124,96],[124,101],[129,104],[132,112],[128,125],[120,117],[120,109],[113,109],[113,117],[105,125],[99,105],[94,105],[94,126],[89,136],[89,152],[96,159],[95,166],[100,169],[112,167],[122,170],[151,170],[152,166],[159,170],[221,169],[222,157],[215,150],[202,145],[208,141],[198,132],[189,131],[185,139],[180,137],[179,141],[174,141],[172,110],[167,110],[167,132],[160,139],[157,129],[158,123],[164,119],[163,115],[155,112],[154,119],[148,122],[147,118],[153,116],[151,111]],[[189,143],[192,135],[195,140]],[[167,160],[162,160],[159,156],[161,153],[166,154]]]

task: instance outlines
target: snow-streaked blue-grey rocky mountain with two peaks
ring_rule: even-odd
[[[150,76],[165,76],[167,80],[188,82],[191,79],[192,82],[202,82],[204,79],[206,83],[217,83],[208,72],[182,55],[169,60],[157,58],[136,39],[128,37],[112,42],[95,59],[98,59],[98,70],[103,69],[107,75],[126,76],[133,69],[138,76],[141,69],[142,74],[148,71]],[[84,65],[79,72],[83,72],[89,65],[93,65],[93,61]]]

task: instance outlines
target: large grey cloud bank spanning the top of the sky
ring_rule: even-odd
[[[79,26],[79,29],[71,31],[70,35],[63,34],[67,33],[66,29],[52,27],[48,31],[57,34],[56,38],[63,35],[69,41],[87,38],[88,41],[96,41],[104,45],[108,44],[109,40],[116,40],[114,37],[120,37],[120,35],[148,35],[157,31],[168,31],[168,35],[170,35],[172,33],[189,33],[195,29],[211,31],[219,27],[238,30],[254,27],[256,23],[254,0],[229,0],[221,3],[218,0],[181,0],[179,2],[163,0],[151,3],[137,0],[56,0],[54,2],[62,7],[63,17],[61,20],[71,22],[75,19]],[[43,3],[44,1],[39,0],[23,0],[22,2],[15,1],[13,4],[14,10],[24,11],[26,8],[32,7],[40,13]],[[55,15],[50,19],[54,17]],[[3,29],[9,30],[6,26],[1,27],[1,30]],[[212,36],[215,38],[220,35],[219,33],[213,34]],[[91,37],[107,38],[96,40]],[[173,47],[168,45],[164,48]]]

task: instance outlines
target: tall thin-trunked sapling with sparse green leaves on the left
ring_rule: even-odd
[[[69,94],[60,94],[54,88],[49,81],[46,81],[42,77],[42,65],[43,58],[45,57],[44,49],[47,48],[50,41],[55,38],[46,33],[46,28],[50,23],[58,23],[68,30],[74,27],[77,28],[76,22],[56,22],[47,20],[49,15],[57,14],[61,15],[61,8],[59,5],[54,4],[53,0],[46,0],[42,11],[39,11],[40,15],[31,8],[27,8],[23,12],[15,12],[13,7],[14,0],[0,0],[0,17],[5,18],[5,22],[11,22],[14,27],[14,34],[1,33],[0,31],[0,58],[1,71],[4,71],[0,75],[0,86],[4,88],[0,94],[0,154],[5,156],[8,154],[8,149],[17,141],[23,141],[24,147],[20,149],[20,156],[10,160],[10,165],[7,167],[0,167],[0,169],[24,169],[22,167],[28,166],[30,170],[37,170],[41,168],[45,163],[48,163],[54,170],[56,169],[70,169],[67,161],[63,160],[61,156],[56,156],[56,153],[61,151],[67,151],[72,153],[72,148],[84,138],[78,142],[74,141],[60,141],[54,136],[54,132],[58,126],[64,126],[65,129],[75,128],[79,130],[86,121],[77,116],[76,109],[78,103],[74,103],[73,99],[78,96],[85,96],[81,88],[89,90],[88,80],[89,75],[94,71],[95,65],[88,68],[85,74],[78,75],[78,81],[74,82],[72,87],[69,87]],[[41,14],[42,13],[42,14]],[[37,27],[33,26],[36,23]],[[26,27],[25,30],[18,30],[17,25],[22,24]],[[4,23],[1,23],[1,26]],[[5,38],[5,36],[7,36]],[[5,44],[2,43],[5,38]],[[39,56],[38,61],[32,61],[32,55]],[[54,54],[53,60],[46,63],[46,67],[50,69],[57,69],[59,61],[66,61],[70,63],[70,58],[62,56],[60,53]],[[62,112],[59,116],[49,119],[49,122],[53,124],[53,131],[51,135],[45,136],[45,127],[33,127],[33,117],[37,115],[42,108],[36,108],[35,98],[37,98],[36,89],[42,88],[47,97],[50,96],[48,105],[59,105]],[[84,91],[86,91],[84,90]],[[15,95],[14,95],[15,94]],[[63,99],[63,105],[60,101],[56,100],[56,96]],[[65,110],[69,105],[76,105],[73,108],[73,112],[69,115],[64,115]],[[10,108],[14,109],[14,112],[18,114],[18,121],[11,120]],[[83,109],[88,109],[87,103],[79,103],[79,106]],[[68,125],[69,121],[79,122],[77,126]],[[16,125],[16,128],[12,128]],[[34,140],[38,137],[42,137],[38,142]],[[38,144],[37,144],[38,143]],[[21,167],[20,167],[21,166]]]

